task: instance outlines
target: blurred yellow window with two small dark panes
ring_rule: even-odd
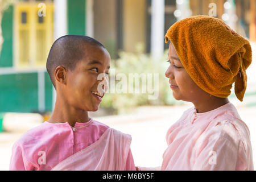
[[[53,3],[49,1],[17,3],[14,21],[15,66],[45,67],[53,43]]]

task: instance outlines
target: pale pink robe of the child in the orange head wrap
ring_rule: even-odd
[[[162,170],[253,170],[250,132],[228,103],[206,113],[186,110],[170,127]]]

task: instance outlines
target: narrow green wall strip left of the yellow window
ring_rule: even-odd
[[[13,66],[13,6],[5,10],[2,17],[3,45],[0,55],[0,67]]]

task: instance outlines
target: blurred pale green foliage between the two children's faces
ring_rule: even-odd
[[[172,91],[170,89],[170,84],[168,83],[168,78],[164,75],[170,63],[167,63],[168,50],[164,51],[164,55],[162,59],[153,60],[150,55],[147,55],[144,52],[144,48],[142,44],[138,44],[137,52],[129,53],[129,52],[119,52],[119,59],[112,60],[111,69],[109,73],[109,85],[111,86],[111,81],[117,78],[116,76],[119,73],[123,73],[127,77],[127,85],[129,84],[129,73],[151,73],[152,74],[152,88],[154,88],[154,73],[159,74],[159,95],[156,100],[148,100],[148,95],[152,95],[152,93],[142,93],[141,89],[146,88],[147,82],[142,81],[142,78],[139,78],[140,82],[140,92],[139,93],[111,93],[111,89],[109,88],[109,93],[106,93],[102,102],[102,108],[112,108],[115,110],[115,114],[127,113],[129,109],[133,109],[136,106],[142,105],[175,105],[180,104],[180,101],[176,101],[174,97],[172,97]],[[113,71],[114,69],[114,71]],[[115,88],[117,88],[118,82],[122,80],[115,79]],[[135,88],[135,84],[133,84],[133,88]],[[157,88],[157,87],[156,87]],[[128,86],[127,86],[128,90]]]

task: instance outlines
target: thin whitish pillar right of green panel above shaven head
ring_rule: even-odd
[[[86,35],[93,38],[94,25],[93,25],[93,0],[86,0],[85,9],[85,25],[86,25]]]

